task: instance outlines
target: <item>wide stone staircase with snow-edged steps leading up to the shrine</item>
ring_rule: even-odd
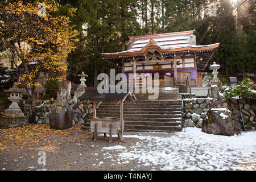
[[[148,95],[150,94],[135,94],[137,101],[123,103],[125,131],[181,131],[179,89],[160,87],[157,100],[148,100]],[[116,101],[102,102],[97,109],[98,117],[119,117],[119,114],[119,102]],[[90,123],[86,123],[85,126],[89,127]]]

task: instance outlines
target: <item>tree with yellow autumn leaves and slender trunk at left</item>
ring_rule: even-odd
[[[62,80],[67,70],[64,57],[75,48],[77,31],[68,16],[58,13],[55,1],[0,3],[0,46],[14,52],[18,85],[27,90],[31,121],[35,121],[35,88],[41,71]],[[75,10],[69,10],[72,15]],[[18,63],[21,63],[18,65]]]

